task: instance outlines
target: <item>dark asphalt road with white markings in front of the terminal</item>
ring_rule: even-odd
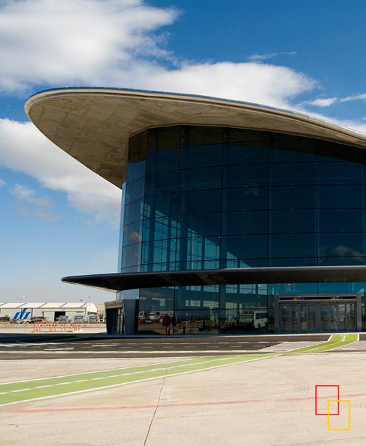
[[[294,350],[324,342],[328,335],[117,338],[6,335],[1,359],[212,356]]]

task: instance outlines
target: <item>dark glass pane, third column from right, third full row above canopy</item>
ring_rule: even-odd
[[[267,209],[267,187],[243,187],[223,190],[223,210]]]

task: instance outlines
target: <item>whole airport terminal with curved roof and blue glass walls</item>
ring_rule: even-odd
[[[110,333],[366,330],[366,135],[138,90],[47,90],[25,109],[123,190],[119,272],[63,279],[117,291]]]

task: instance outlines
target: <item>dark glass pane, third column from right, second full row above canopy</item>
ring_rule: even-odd
[[[265,234],[268,231],[267,211],[222,213],[222,234]]]

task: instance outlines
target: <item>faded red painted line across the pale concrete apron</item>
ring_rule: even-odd
[[[354,393],[344,395],[344,397],[365,397],[366,393]],[[326,397],[325,397],[326,398]],[[167,403],[159,404],[159,408],[164,407],[189,407],[189,406],[224,406],[229,404],[264,404],[271,402],[289,402],[289,401],[306,401],[314,399],[311,397],[293,397],[293,398],[273,398],[273,399],[244,399],[239,401],[212,401],[198,403]],[[19,402],[21,403],[21,402]],[[136,410],[136,409],[152,409],[156,408],[156,404],[141,404],[138,406],[101,406],[101,407],[65,407],[65,408],[44,408],[44,409],[19,409],[19,410],[1,410],[0,413],[39,413],[39,412],[82,412],[93,410]]]

